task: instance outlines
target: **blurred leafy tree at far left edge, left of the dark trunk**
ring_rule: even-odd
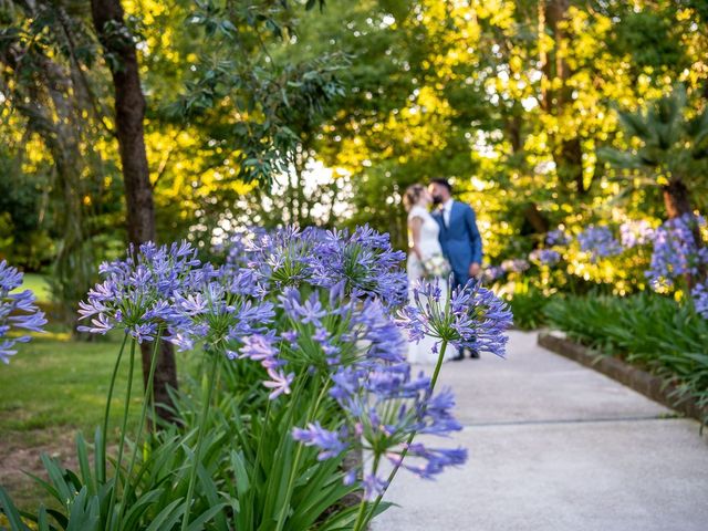
[[[42,138],[53,162],[52,187],[61,204],[55,220],[62,237],[52,291],[75,330],[77,302],[93,280],[91,216],[85,205],[92,198],[85,177],[101,177],[83,150],[86,136],[95,134],[84,118],[92,115],[91,101],[80,65],[67,52],[75,42],[61,7],[11,2],[0,7],[0,15],[12,22],[0,30],[0,91],[23,116],[28,132]]]

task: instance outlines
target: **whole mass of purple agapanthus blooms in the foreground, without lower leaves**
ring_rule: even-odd
[[[374,459],[347,481],[358,478],[368,498],[386,487],[382,460],[425,478],[465,461],[464,449],[413,441],[460,425],[451,393],[434,394],[428,377],[410,374],[404,332],[413,341],[437,337],[436,348],[449,343],[503,356],[511,324],[504,303],[475,281],[452,293],[436,281],[414,287],[416,304],[399,310],[405,257],[368,227],[351,235],[285,228],[240,241],[220,268],[199,263],[186,243],[146,244],[102,266],[107,278],[82,303],[82,319],[92,319],[82,330],[124,329],[137,341],[163,334],[180,348],[201,344],[233,363],[256,362],[270,399],[321,382],[342,415],[330,424],[309,418],[292,436],[319,448],[320,459],[363,445]]]

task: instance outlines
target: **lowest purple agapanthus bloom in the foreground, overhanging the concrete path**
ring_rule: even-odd
[[[335,430],[313,423],[295,428],[293,438],[319,448],[321,460],[351,448],[363,448],[367,459],[361,469],[348,471],[345,482],[351,485],[361,477],[367,499],[387,487],[387,477],[381,470],[382,459],[425,479],[433,479],[445,468],[467,460],[464,448],[408,442],[412,435],[448,436],[461,429],[451,413],[452,394],[449,391],[431,394],[429,378],[423,374],[412,376],[408,364],[379,364],[368,369],[343,367],[333,375],[333,381],[330,394],[347,421]]]

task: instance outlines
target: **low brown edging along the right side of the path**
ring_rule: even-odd
[[[538,344],[555,354],[593,368],[687,417],[695,418],[699,423],[708,421],[708,407],[701,408],[696,399],[680,396],[676,385],[659,376],[642,371],[617,357],[575,343],[561,332],[540,332]]]

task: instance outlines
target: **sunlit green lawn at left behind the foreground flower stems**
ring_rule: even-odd
[[[105,396],[121,344],[117,341],[83,343],[67,334],[48,334],[18,345],[9,365],[0,366],[0,482],[21,507],[37,509],[39,489],[22,470],[40,473],[42,451],[71,462],[76,429],[93,439],[103,419]],[[127,362],[127,350],[124,362]],[[117,431],[127,382],[122,364],[112,405],[111,427]],[[143,389],[139,352],[133,388]],[[133,402],[133,400],[132,400]],[[132,416],[139,414],[140,396]]]

